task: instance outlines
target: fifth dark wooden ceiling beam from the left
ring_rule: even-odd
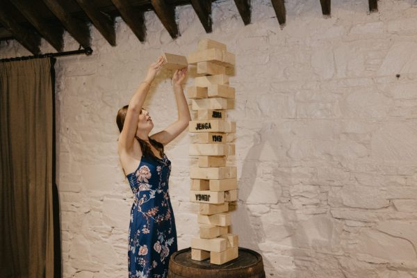
[[[145,42],[146,27],[145,27],[145,15],[142,10],[135,11],[128,0],[111,0],[117,10],[119,10],[120,16],[126,22],[127,26],[131,28],[133,33],[138,37],[141,42]]]

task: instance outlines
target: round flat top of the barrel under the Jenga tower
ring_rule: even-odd
[[[199,269],[199,270],[217,270],[230,271],[242,268],[255,267],[259,264],[263,266],[261,254],[243,247],[239,247],[238,258],[228,261],[222,265],[210,263],[210,259],[204,261],[195,261],[191,259],[191,248],[188,247],[172,254],[170,264],[176,264],[181,268]]]

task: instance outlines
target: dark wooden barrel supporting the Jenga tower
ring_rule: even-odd
[[[222,265],[213,265],[210,259],[194,261],[191,248],[179,250],[170,258],[168,278],[265,278],[261,254],[239,247],[237,259]]]

